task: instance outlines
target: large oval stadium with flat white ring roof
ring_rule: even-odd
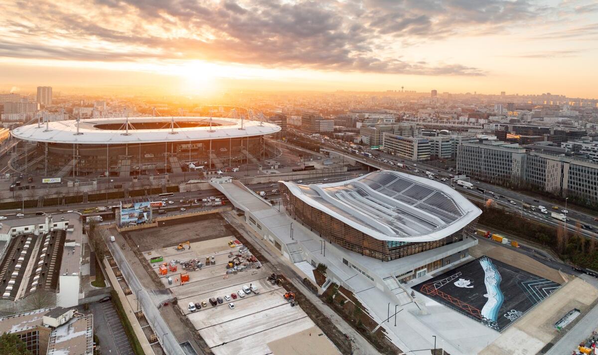
[[[13,156],[12,164],[21,172],[54,177],[222,169],[269,157],[264,136],[278,131],[280,127],[270,123],[220,117],[38,123],[11,131],[15,139],[29,143]]]

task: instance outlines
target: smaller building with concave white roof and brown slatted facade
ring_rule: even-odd
[[[450,255],[425,252],[462,252],[458,245],[467,244],[481,214],[450,186],[388,170],[322,185],[280,182],[280,192],[289,215],[322,238],[382,261],[410,256],[411,266],[428,262],[428,271]],[[416,261],[419,255],[434,260]]]

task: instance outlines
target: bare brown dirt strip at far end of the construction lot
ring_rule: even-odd
[[[124,232],[126,238],[131,238],[139,251],[148,252],[167,246],[175,246],[185,241],[203,241],[232,235],[230,226],[219,213],[193,216],[189,218],[171,219],[160,222],[158,228],[142,229],[140,231]]]

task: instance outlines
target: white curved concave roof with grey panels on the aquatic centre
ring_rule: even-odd
[[[450,186],[390,170],[327,184],[283,183],[310,206],[379,240],[439,240],[481,215]]]

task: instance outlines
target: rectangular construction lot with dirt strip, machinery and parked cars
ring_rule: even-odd
[[[339,354],[220,215],[168,222],[128,237],[214,354]]]

